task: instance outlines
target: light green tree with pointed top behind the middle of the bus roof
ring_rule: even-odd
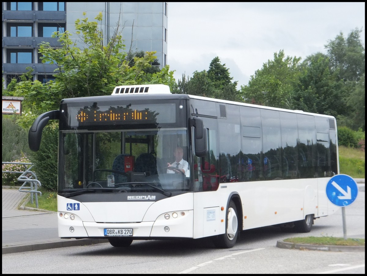
[[[293,109],[294,86],[298,84],[301,58],[285,56],[284,51],[274,53],[274,60],[264,63],[250,77],[248,85],[241,86],[245,102],[278,108]]]

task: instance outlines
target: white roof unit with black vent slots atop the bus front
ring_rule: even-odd
[[[171,91],[165,84],[123,85],[116,86],[111,95],[128,94],[171,94]]]

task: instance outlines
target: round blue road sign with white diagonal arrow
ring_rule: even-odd
[[[345,207],[356,200],[358,186],[356,181],[346,174],[334,175],[326,185],[327,198],[336,206]]]

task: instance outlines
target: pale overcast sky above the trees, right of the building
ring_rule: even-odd
[[[239,89],[280,50],[303,61],[356,28],[364,47],[364,9],[365,2],[168,2],[167,64],[177,81],[218,56]]]

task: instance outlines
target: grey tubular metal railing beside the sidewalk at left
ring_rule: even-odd
[[[21,175],[18,177],[18,181],[24,182],[22,186],[19,188],[19,192],[26,192],[30,194],[30,203],[33,204],[33,196],[36,200],[36,208],[38,208],[38,195],[42,195],[41,191],[37,190],[37,185],[41,186],[41,182],[37,179],[36,174],[30,169],[33,167],[33,163],[23,163],[23,162],[3,162],[3,164],[16,164],[23,165],[24,171],[2,171],[2,172],[10,172],[10,173],[20,173]],[[28,175],[30,174],[29,178]],[[29,186],[26,186],[29,183]]]

